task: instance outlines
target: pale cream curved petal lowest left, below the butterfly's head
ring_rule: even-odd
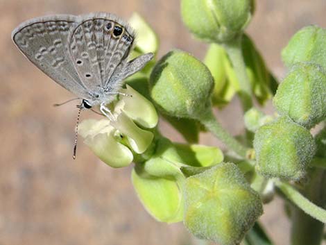
[[[127,146],[117,142],[114,137],[115,131],[107,119],[99,121],[89,119],[79,124],[78,133],[103,162],[111,167],[126,167],[132,162],[132,152]]]

